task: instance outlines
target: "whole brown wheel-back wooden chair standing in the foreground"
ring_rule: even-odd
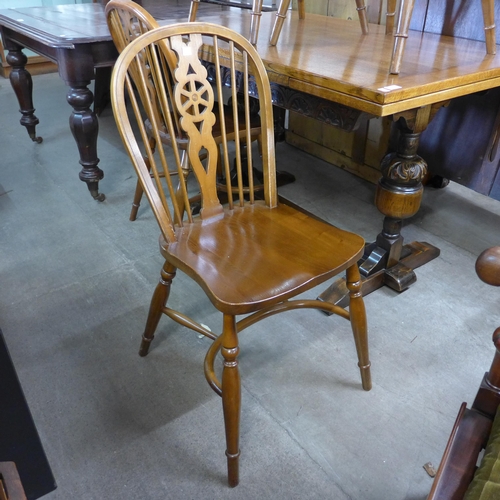
[[[173,72],[168,63],[170,51],[177,60]],[[200,54],[203,60],[214,63],[214,87]],[[171,79],[173,85],[166,84]],[[227,114],[214,107],[216,98],[220,101],[227,89],[228,80],[232,82],[233,120],[243,124],[232,143],[224,133]],[[230,148],[238,153],[243,143],[250,142],[249,85],[255,85],[260,100],[262,156],[249,149],[243,162],[236,154],[237,191],[233,195],[228,185],[228,201],[223,205],[217,189],[218,144],[213,125],[220,121],[221,157],[228,179]],[[147,98],[152,86],[158,107]],[[238,92],[243,99],[237,99]],[[160,251],[165,258],[139,352],[141,356],[148,353],[162,314],[213,340],[205,357],[205,376],[222,398],[228,481],[236,486],[241,406],[238,336],[247,327],[274,314],[303,308],[320,309],[350,320],[362,387],[370,390],[366,315],[357,266],[364,241],[289,204],[278,203],[269,79],[255,48],[240,34],[208,23],[184,23],[142,35],[124,49],[115,64],[111,102],[120,136],[160,226]],[[176,113],[188,138],[186,151],[201,192],[202,208],[195,216],[180,210],[178,193],[187,203],[187,186],[181,182],[177,189],[170,174],[172,170],[182,174],[178,143],[173,141],[171,148],[158,147],[153,154],[148,141],[152,136],[161,143],[164,124],[173,136]],[[145,125],[148,121],[151,131]],[[202,152],[206,154],[205,163],[200,160]],[[253,189],[255,166],[261,169],[264,179],[260,200]],[[165,179],[160,179],[162,173]],[[246,195],[244,173],[251,188]],[[167,304],[178,270],[197,282],[222,313],[220,334]],[[350,291],[349,311],[319,300],[294,298],[344,271]],[[193,300],[196,302],[196,298]],[[239,315],[245,316],[237,319]],[[324,321],[331,318],[324,316]],[[279,358],[279,345],[276,351]],[[214,367],[219,353],[221,377]]]

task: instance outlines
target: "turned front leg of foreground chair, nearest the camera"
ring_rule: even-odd
[[[225,314],[221,348],[224,358],[222,408],[226,428],[227,477],[229,486],[232,488],[239,482],[241,412],[241,381],[237,359],[239,350],[235,317]]]

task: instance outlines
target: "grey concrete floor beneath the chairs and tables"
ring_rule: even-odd
[[[204,380],[207,342],[164,318],[137,355],[162,260],[148,207],[128,221],[135,185],[111,110],[100,119],[105,170],[95,202],[78,179],[70,108],[57,74],[34,77],[42,144],[29,141],[0,81],[0,327],[58,488],[47,500],[423,500],[462,401],[493,355],[500,292],[476,277],[499,243],[500,204],[458,185],[426,189],[407,241],[441,256],[397,294],[366,299],[373,389],[364,392],[347,322],[311,311],[241,336],[241,483],[226,486],[221,403]],[[286,144],[281,192],[372,240],[374,186]],[[178,276],[172,302],[220,326]]]

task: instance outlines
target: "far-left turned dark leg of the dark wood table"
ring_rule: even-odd
[[[36,126],[39,120],[35,116],[35,108],[33,107],[33,80],[25,67],[28,58],[23,54],[21,47],[18,47],[10,49],[6,59],[12,66],[9,79],[19,102],[19,111],[22,114],[20,123],[26,127],[33,142],[41,143],[43,139],[36,135]]]

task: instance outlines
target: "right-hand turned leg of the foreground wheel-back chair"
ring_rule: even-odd
[[[366,323],[365,303],[361,293],[361,277],[357,264],[349,267],[346,273],[346,284],[349,289],[349,314],[351,328],[358,354],[358,366],[361,372],[361,384],[365,391],[372,388],[370,372],[370,356],[368,354],[368,327]]]

